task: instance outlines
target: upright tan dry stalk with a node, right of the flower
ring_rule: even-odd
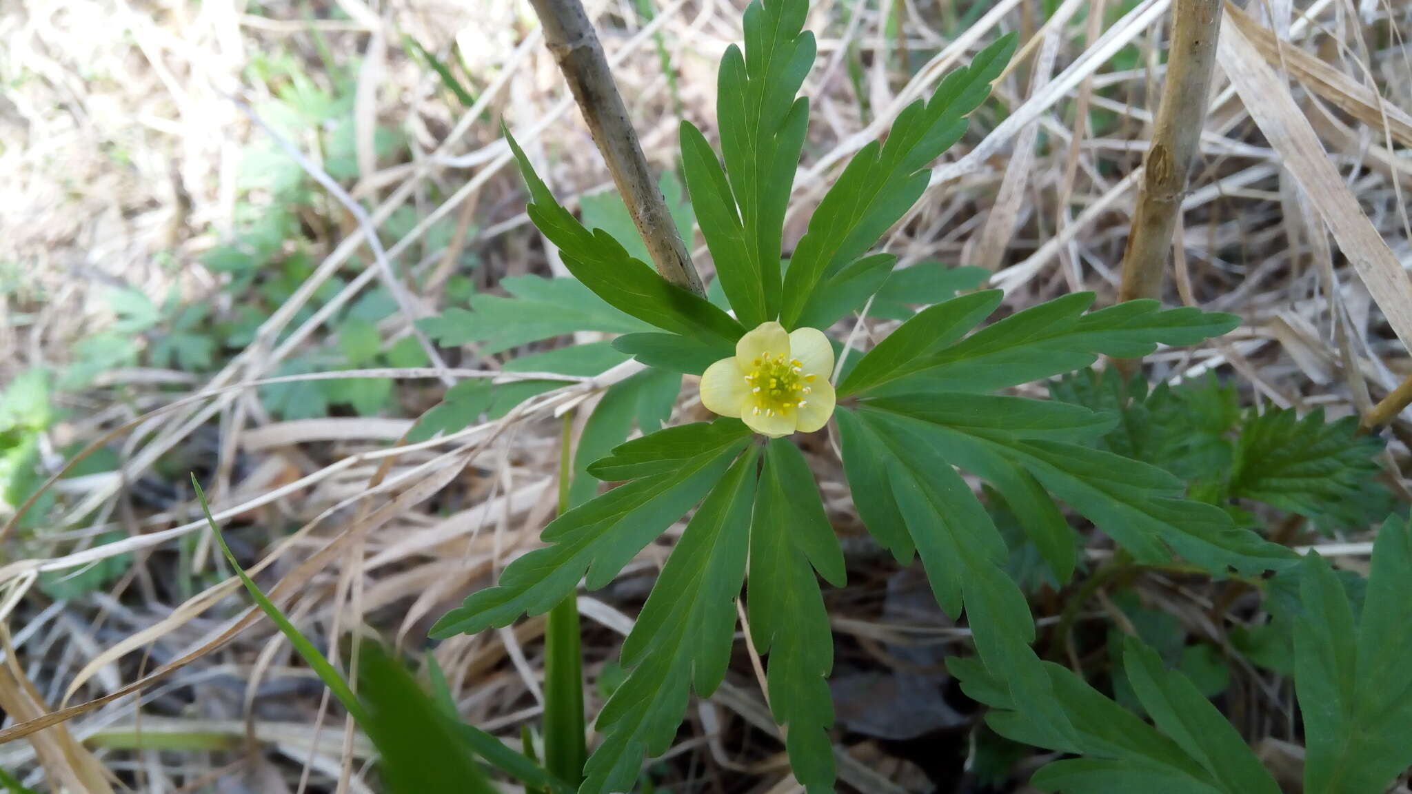
[[[1162,295],[1172,229],[1206,123],[1206,95],[1216,65],[1220,23],[1221,0],[1176,0],[1172,4],[1166,85],[1162,86],[1162,106],[1156,112],[1152,147],[1123,254],[1120,301]]]

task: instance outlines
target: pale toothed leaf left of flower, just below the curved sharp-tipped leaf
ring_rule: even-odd
[[[510,297],[474,295],[470,309],[450,308],[418,321],[428,336],[446,346],[479,343],[483,353],[500,353],[528,342],[576,331],[630,333],[652,326],[624,314],[573,278],[513,275],[503,278]]]

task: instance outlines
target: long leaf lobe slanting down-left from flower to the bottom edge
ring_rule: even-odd
[[[676,737],[688,689],[707,697],[726,675],[754,493],[751,448],[686,526],[623,643],[631,672],[594,723],[604,739],[589,757],[580,794],[630,791],[642,756],[664,753]]]

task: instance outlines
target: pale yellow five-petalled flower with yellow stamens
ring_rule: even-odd
[[[833,348],[822,331],[785,332],[762,322],[736,342],[734,356],[706,367],[702,404],[762,435],[813,432],[833,414],[832,370]]]

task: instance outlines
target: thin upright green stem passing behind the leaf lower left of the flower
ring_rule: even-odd
[[[563,414],[559,442],[559,514],[569,510],[573,476],[573,411]],[[587,759],[583,726],[583,651],[579,599],[569,593],[549,610],[544,633],[544,760],[555,777],[578,786]]]

